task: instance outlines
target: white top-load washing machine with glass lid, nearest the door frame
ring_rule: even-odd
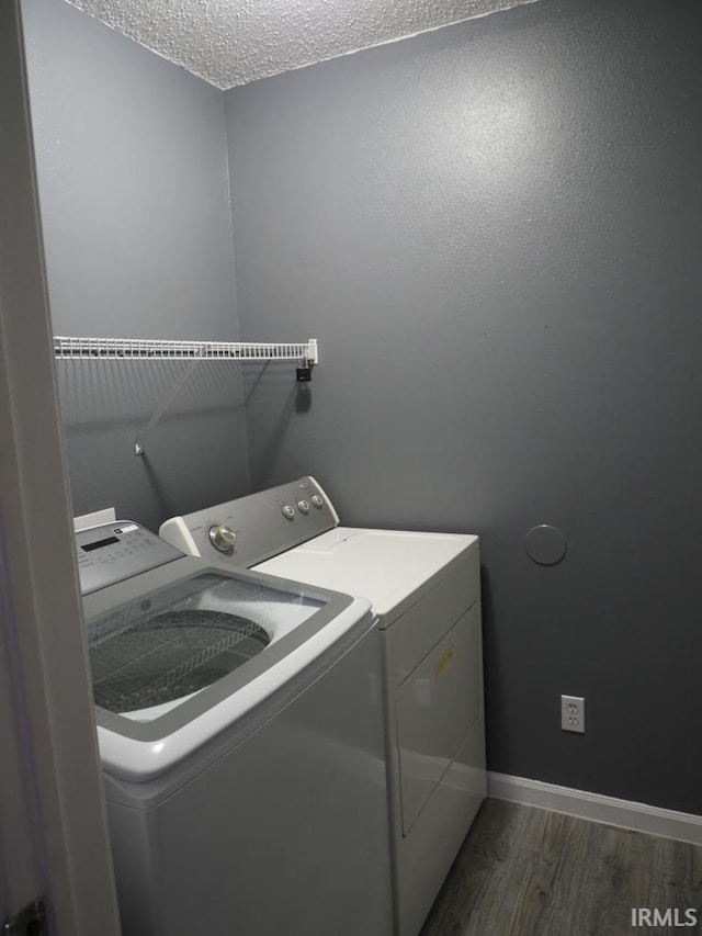
[[[76,535],[124,936],[387,936],[370,602]]]

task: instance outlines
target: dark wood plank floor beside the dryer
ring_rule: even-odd
[[[632,907],[702,906],[702,847],[486,800],[420,936],[702,934]]]

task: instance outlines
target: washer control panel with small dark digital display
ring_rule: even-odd
[[[80,530],[76,554],[82,595],[183,557],[179,549],[132,520]]]

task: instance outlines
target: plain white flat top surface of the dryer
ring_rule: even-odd
[[[462,553],[477,548],[477,537],[460,533],[337,527],[256,568],[363,595],[387,625],[416,600],[430,579]]]

